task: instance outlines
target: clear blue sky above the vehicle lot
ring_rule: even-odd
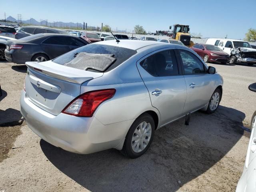
[[[48,22],[87,22],[108,24],[118,30],[133,30],[136,24],[148,32],[168,30],[170,25],[190,25],[190,32],[203,37],[243,39],[249,28],[256,28],[256,0],[2,0],[0,19],[30,17]],[[177,5],[176,5],[177,3]]]

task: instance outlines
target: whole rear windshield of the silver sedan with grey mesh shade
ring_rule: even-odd
[[[123,47],[89,44],[59,56],[52,61],[72,68],[107,72],[116,68],[136,53],[136,50]]]

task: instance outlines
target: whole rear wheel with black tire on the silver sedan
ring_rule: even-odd
[[[142,156],[150,147],[154,137],[154,119],[145,113],[139,116],[130,127],[122,148],[122,154],[130,158]]]

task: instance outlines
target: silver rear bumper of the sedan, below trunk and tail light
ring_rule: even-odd
[[[54,116],[30,102],[24,90],[20,106],[22,116],[35,134],[56,147],[79,154],[110,148],[121,150],[126,130],[133,122],[128,120],[103,125],[94,116],[84,118],[62,113]]]

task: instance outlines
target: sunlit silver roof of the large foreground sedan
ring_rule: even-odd
[[[158,41],[133,41],[133,40],[120,40],[120,42],[117,43],[116,40],[108,40],[108,41],[96,42],[94,44],[112,45],[112,46],[132,49],[132,50],[138,50],[145,46],[150,46],[154,44],[166,44],[166,43],[158,42]]]

